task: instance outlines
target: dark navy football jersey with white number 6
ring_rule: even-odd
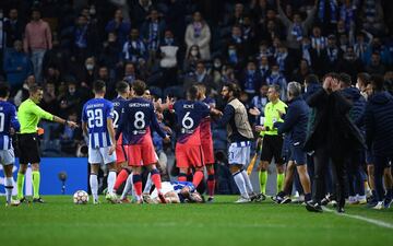
[[[178,142],[201,144],[200,124],[210,115],[207,104],[199,101],[180,99],[174,104],[177,124],[180,131],[177,132]]]

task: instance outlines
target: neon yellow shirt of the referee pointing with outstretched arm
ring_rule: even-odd
[[[53,120],[53,115],[47,113],[31,98],[23,102],[17,109],[21,133],[35,133],[40,119]]]

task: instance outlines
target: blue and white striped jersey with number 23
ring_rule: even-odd
[[[87,122],[88,147],[93,149],[111,145],[107,119],[114,119],[114,104],[104,98],[93,98],[85,103],[82,121]]]

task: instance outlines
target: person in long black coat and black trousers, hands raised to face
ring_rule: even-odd
[[[332,161],[337,197],[337,212],[344,212],[345,204],[345,161],[348,153],[365,147],[359,129],[352,122],[348,112],[352,107],[340,91],[340,75],[327,73],[323,78],[323,89],[307,101],[315,108],[315,121],[305,144],[305,151],[314,151],[314,181],[312,200],[307,210],[322,212],[321,199],[324,196],[324,176]]]

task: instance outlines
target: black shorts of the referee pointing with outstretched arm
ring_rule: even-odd
[[[17,136],[20,163],[39,163],[39,147],[36,133],[22,133]]]

